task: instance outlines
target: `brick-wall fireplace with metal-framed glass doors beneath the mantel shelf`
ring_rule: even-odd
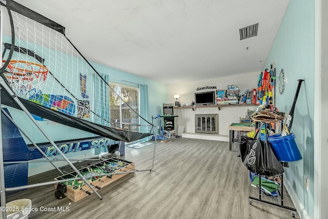
[[[218,134],[219,114],[195,114],[195,133]]]

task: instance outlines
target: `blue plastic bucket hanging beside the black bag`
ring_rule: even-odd
[[[279,161],[293,162],[302,160],[302,155],[295,142],[294,133],[286,136],[281,136],[280,134],[270,135],[268,141]]]

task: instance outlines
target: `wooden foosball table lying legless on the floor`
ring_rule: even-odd
[[[119,178],[126,176],[129,173],[113,174],[119,172],[134,171],[134,163],[126,160],[122,160],[116,157],[109,158],[88,167],[79,169],[78,171],[86,178],[86,180],[94,187],[95,190],[99,190],[105,187]],[[104,176],[96,176],[99,174],[108,174]],[[55,178],[58,180],[68,180],[69,178],[78,178],[76,172],[70,172],[65,175],[61,175]],[[65,188],[64,195],[68,197],[73,202],[77,202],[82,198],[91,195],[93,193],[92,189],[81,179],[71,180],[65,183],[60,183],[61,187]],[[55,184],[55,189],[58,189],[58,183]],[[64,196],[64,197],[65,197]]]

